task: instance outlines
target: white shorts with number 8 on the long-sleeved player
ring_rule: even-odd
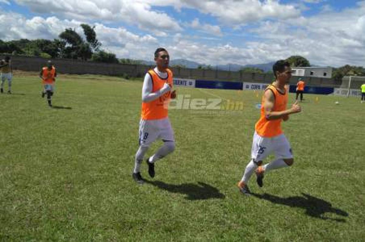
[[[139,145],[149,146],[156,139],[175,141],[169,118],[143,120],[139,122]]]

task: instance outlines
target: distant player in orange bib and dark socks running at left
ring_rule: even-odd
[[[47,61],[47,66],[42,68],[41,73],[39,73],[39,77],[42,78],[43,84],[42,98],[47,95],[47,102],[50,107],[52,107],[51,98],[54,93],[54,82],[56,81],[56,76],[57,72],[52,61]]]

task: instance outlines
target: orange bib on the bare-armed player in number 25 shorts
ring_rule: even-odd
[[[271,90],[274,93],[274,107],[272,111],[284,111],[287,108],[288,103],[288,90],[285,90],[285,93],[280,93],[274,85],[269,85],[266,90]],[[266,92],[265,90],[265,92]],[[274,137],[283,133],[281,130],[281,120],[282,119],[274,119],[268,120],[265,117],[264,110],[264,97],[262,97],[261,103],[261,117],[257,121],[255,125],[255,130],[258,135],[265,138]]]

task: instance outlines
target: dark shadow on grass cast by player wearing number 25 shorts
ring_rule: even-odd
[[[323,220],[333,220],[333,221],[337,221],[337,222],[346,222],[345,219],[341,218],[328,218],[326,216],[324,216],[325,213],[333,213],[333,214],[337,214],[337,215],[341,215],[344,217],[349,216],[349,214],[339,208],[334,208],[332,207],[332,204],[329,203],[328,201],[325,201],[323,199],[319,199],[317,197],[305,194],[305,193],[301,193],[303,194],[303,197],[301,196],[293,196],[293,197],[278,197],[275,195],[270,195],[268,193],[264,193],[264,194],[256,194],[256,193],[251,193],[253,196],[261,198],[261,199],[265,199],[268,200],[272,203],[276,203],[276,204],[283,204],[283,205],[287,205],[289,207],[299,207],[299,208],[304,208],[306,209],[306,215],[314,217],[314,218],[319,218],[319,219],[323,219]]]

